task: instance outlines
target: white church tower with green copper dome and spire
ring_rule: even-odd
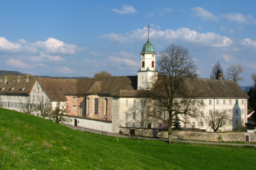
[[[149,42],[149,28],[148,24],[148,42],[143,45],[142,51],[140,52],[138,89],[151,89],[152,84],[157,79],[156,52],[153,44]]]

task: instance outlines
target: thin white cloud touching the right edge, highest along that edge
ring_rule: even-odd
[[[222,14],[223,17],[230,21],[238,22],[239,24],[254,24],[256,21],[253,19],[252,15],[243,15],[242,13],[226,13]]]

